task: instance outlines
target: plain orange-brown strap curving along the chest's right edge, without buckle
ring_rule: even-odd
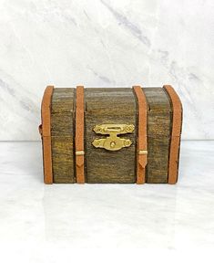
[[[173,89],[170,85],[164,85],[163,88],[168,92],[173,110],[172,133],[168,163],[168,184],[176,184],[178,181],[178,158],[182,125],[182,104],[175,89]]]

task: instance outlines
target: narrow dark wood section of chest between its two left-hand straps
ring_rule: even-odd
[[[54,183],[75,183],[75,89],[54,89],[51,105],[51,143]]]

